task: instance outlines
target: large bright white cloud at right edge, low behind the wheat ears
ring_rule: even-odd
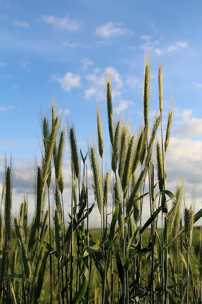
[[[185,179],[185,199],[191,203],[193,185],[196,187],[196,212],[202,202],[202,141],[171,137],[166,153],[166,189],[175,193],[177,181]],[[201,221],[201,220],[200,220]]]

